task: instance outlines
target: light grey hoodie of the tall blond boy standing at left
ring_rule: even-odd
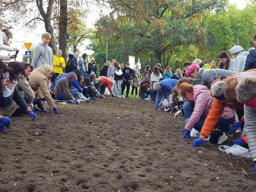
[[[53,68],[53,61],[54,56],[51,47],[42,43],[35,46],[31,63],[33,67],[38,68],[44,64],[48,64]]]

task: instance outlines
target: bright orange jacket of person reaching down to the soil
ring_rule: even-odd
[[[256,69],[251,69],[246,72],[252,72],[256,71]],[[242,72],[245,73],[245,72]],[[241,81],[241,78],[239,77],[242,73],[237,73],[234,76],[237,77],[237,81]],[[244,74],[242,74],[244,76]],[[216,83],[217,81],[226,81],[226,79],[217,79],[214,81],[212,84]],[[239,80],[240,79],[240,80]],[[208,137],[212,130],[214,129],[215,125],[218,123],[219,119],[221,118],[221,115],[224,111],[225,108],[231,108],[231,109],[239,109],[243,110],[244,109],[244,104],[239,103],[237,100],[234,100],[233,103],[221,103],[220,100],[214,98],[211,110],[209,111],[209,115],[204,121],[204,125],[202,126],[202,130],[200,132],[200,135]],[[244,117],[242,117],[242,120],[244,121]]]

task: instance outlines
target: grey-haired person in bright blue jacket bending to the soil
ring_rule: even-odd
[[[176,86],[177,83],[177,79],[163,79],[162,81],[154,83],[153,89],[157,91],[155,109],[159,107],[159,103],[161,102],[162,99],[162,94],[164,92],[167,93],[165,96],[165,98],[167,98],[168,95],[172,94],[172,89]]]

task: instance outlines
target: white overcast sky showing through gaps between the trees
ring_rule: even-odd
[[[239,9],[243,9],[244,7],[246,7],[246,4],[249,2],[249,0],[229,0],[230,4],[236,4],[237,8]],[[92,7],[95,8],[95,7]],[[108,10],[105,10],[105,12],[107,12]],[[100,10],[99,8],[95,8],[95,10],[93,10],[94,14],[88,14],[88,17],[86,18],[86,26],[88,28],[94,28],[94,23],[96,22],[96,20],[99,19],[99,13]],[[12,47],[17,47],[18,49],[20,49],[20,53],[18,54],[18,61],[21,61],[22,59],[22,54],[25,54],[25,50],[24,49],[24,43],[25,42],[31,42],[32,44],[39,44],[41,42],[41,34],[43,32],[45,32],[44,29],[44,24],[38,25],[37,28],[33,31],[26,29],[25,27],[22,27],[22,30],[20,29],[21,27],[18,26],[13,26],[14,29],[12,29],[12,33],[13,33],[13,39],[12,39]],[[81,53],[88,53],[88,54],[93,54],[93,51],[91,50],[86,50],[86,46],[90,43],[89,40],[85,40],[83,42],[83,45],[81,47],[79,47],[79,51]],[[1,51],[1,54],[3,55],[5,51]],[[7,55],[8,52],[5,52],[5,54]],[[22,53],[22,54],[21,54]]]

